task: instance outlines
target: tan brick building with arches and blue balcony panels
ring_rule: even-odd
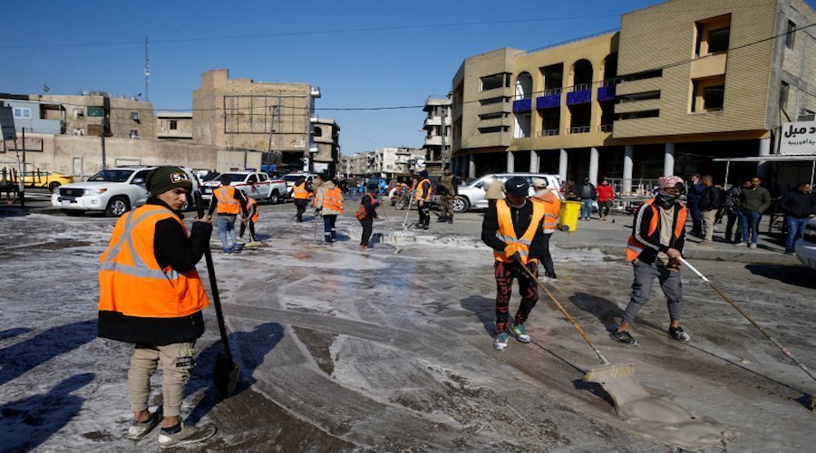
[[[797,28],[814,22],[801,0],[672,0],[617,32],[472,56],[452,81],[454,170],[619,178],[627,193],[668,173],[722,182],[714,158],[772,155],[780,122],[816,110],[816,30]],[[732,176],[803,171],[785,165]]]

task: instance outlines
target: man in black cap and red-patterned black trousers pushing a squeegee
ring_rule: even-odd
[[[538,275],[542,253],[544,206],[527,199],[529,183],[524,178],[510,178],[505,182],[506,199],[488,207],[481,224],[481,240],[493,249],[494,276],[496,277],[496,331],[493,347],[507,348],[508,331],[520,342],[529,342],[524,323],[539,300],[539,289],[529,278],[522,265]],[[519,279],[521,304],[509,329],[510,294],[513,279]]]

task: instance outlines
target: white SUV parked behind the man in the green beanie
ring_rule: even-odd
[[[84,182],[60,186],[51,195],[51,204],[61,207],[68,215],[87,211],[103,211],[108,217],[121,217],[134,207],[147,202],[150,192],[144,178],[155,167],[113,167],[103,169]],[[199,180],[190,169],[181,167],[192,181],[193,190],[199,188]],[[191,200],[182,207],[187,210]]]

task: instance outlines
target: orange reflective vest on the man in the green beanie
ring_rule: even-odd
[[[145,205],[116,222],[99,271],[99,310],[140,318],[178,318],[209,305],[195,269],[160,268],[153,250],[156,223],[166,218],[187,228],[167,207]]]

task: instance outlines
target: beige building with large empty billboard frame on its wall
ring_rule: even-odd
[[[264,163],[309,168],[310,119],[320,89],[308,83],[229,79],[226,69],[201,74],[193,91],[195,143],[267,153]]]

